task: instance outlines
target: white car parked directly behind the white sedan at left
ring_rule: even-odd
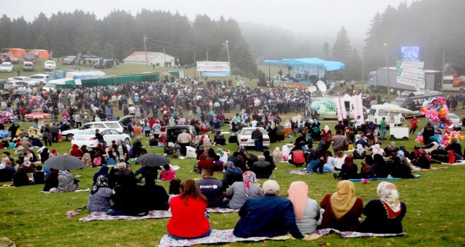
[[[74,128],[72,130],[61,132],[62,138],[66,140],[73,140],[74,135],[79,135],[82,133],[95,132],[96,129],[99,131],[104,131],[106,129],[113,129],[118,132],[127,133],[128,126],[126,123],[130,117],[125,116],[118,121],[100,121],[100,122],[90,122],[83,124],[80,128]]]

